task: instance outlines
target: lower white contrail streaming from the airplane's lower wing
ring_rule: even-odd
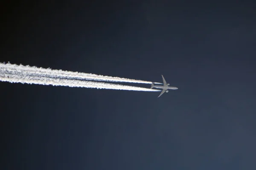
[[[7,64],[6,64],[7,65]],[[160,91],[149,88],[141,88],[128,85],[118,85],[110,84],[105,82],[93,82],[81,79],[71,79],[68,78],[59,78],[52,77],[49,74],[49,77],[45,74],[33,75],[34,72],[26,71],[23,72],[20,69],[12,69],[9,67],[4,67],[5,64],[0,64],[0,81],[11,82],[11,83],[26,83],[26,84],[38,84],[38,85],[54,85],[54,86],[68,86],[68,87],[82,87],[82,88],[98,88],[98,89],[115,89],[115,90],[130,90],[130,91]],[[58,76],[55,74],[54,76]]]

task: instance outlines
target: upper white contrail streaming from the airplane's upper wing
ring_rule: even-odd
[[[102,75],[96,75],[96,74],[79,73],[79,72],[63,71],[63,70],[52,70],[50,68],[38,68],[35,66],[31,67],[29,65],[25,66],[25,65],[16,65],[16,64],[10,64],[10,63],[7,63],[7,64],[0,63],[0,67],[3,69],[8,69],[8,71],[16,71],[23,74],[30,74],[30,75],[44,74],[47,77],[61,77],[61,78],[106,81],[106,82],[132,82],[132,83],[145,83],[145,84],[152,83],[152,82],[136,80],[136,79],[109,77],[109,76],[102,76]],[[162,84],[162,83],[155,82],[155,84]]]

